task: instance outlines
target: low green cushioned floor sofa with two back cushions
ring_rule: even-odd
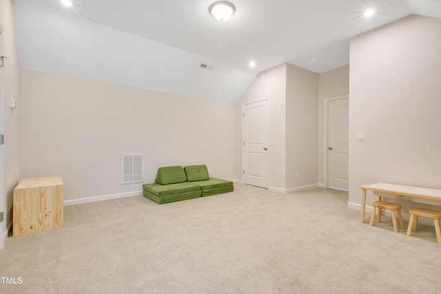
[[[143,185],[143,195],[158,204],[232,191],[233,182],[211,178],[206,165],[160,167],[154,183]]]

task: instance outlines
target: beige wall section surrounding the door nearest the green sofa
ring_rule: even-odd
[[[236,103],[236,179],[242,180],[242,107],[270,97],[269,186],[285,188],[286,63],[260,72]]]

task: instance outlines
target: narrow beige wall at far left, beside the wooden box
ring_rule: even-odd
[[[19,164],[20,164],[20,64],[17,50],[17,41],[15,39],[14,19],[12,17],[12,4],[10,0],[0,0],[0,24],[3,28],[1,36],[2,55],[7,56],[5,67],[2,67],[4,77],[3,91],[3,116],[4,116],[4,134],[5,145],[3,153],[3,171],[4,171],[4,195],[6,203],[3,204],[6,212],[5,222],[1,222],[3,229],[12,222],[12,191],[19,182]],[[17,108],[10,109],[10,99],[17,101]]]

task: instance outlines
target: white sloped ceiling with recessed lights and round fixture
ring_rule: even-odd
[[[261,70],[327,72],[349,63],[351,36],[441,18],[441,0],[231,0],[236,13],[220,22],[214,1],[13,0],[21,67],[234,103]]]

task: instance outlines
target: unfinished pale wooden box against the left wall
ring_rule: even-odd
[[[63,227],[61,176],[25,178],[14,188],[12,235]]]

